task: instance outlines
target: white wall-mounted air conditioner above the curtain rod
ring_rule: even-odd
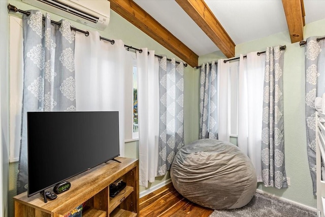
[[[104,30],[110,21],[110,2],[107,0],[22,0],[82,24]]]

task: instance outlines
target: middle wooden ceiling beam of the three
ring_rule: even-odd
[[[203,0],[175,0],[228,58],[235,56],[235,43]]]

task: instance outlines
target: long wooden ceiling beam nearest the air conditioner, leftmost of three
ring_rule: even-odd
[[[171,34],[164,26],[132,0],[109,0],[111,9],[145,34],[163,45],[191,67],[198,66],[199,56]]]

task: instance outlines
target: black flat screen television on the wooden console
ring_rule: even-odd
[[[117,111],[27,112],[30,197],[119,156]]]

